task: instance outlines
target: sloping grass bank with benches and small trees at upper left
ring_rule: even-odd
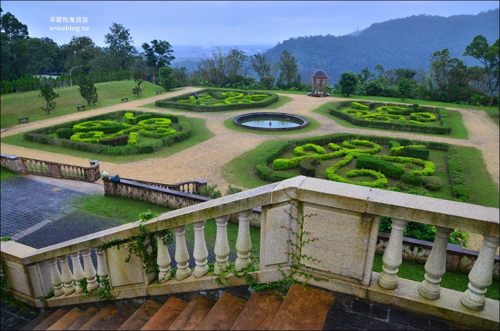
[[[122,103],[121,98],[128,97],[129,101],[144,99],[156,95],[158,86],[149,82],[143,82],[143,96],[134,97],[132,88],[135,86],[133,80],[113,81],[105,83],[96,83],[98,101],[95,106],[87,105],[78,91],[78,86],[60,87],[54,89],[59,93],[59,97],[55,99],[55,109],[47,115],[40,107],[46,105],[44,99],[39,96],[39,91],[29,91],[24,93],[10,93],[1,96],[1,113],[0,127],[5,128],[13,125],[21,125],[17,118],[29,116],[29,121],[39,121],[47,118],[72,114],[77,112],[76,106],[86,105],[86,110],[105,107],[108,104]],[[126,102],[123,102],[125,105]],[[80,112],[84,112],[80,110]]]

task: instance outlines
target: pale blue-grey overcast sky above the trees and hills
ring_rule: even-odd
[[[85,35],[105,46],[104,34],[112,23],[119,23],[130,30],[137,47],[153,39],[172,46],[273,46],[291,37],[344,35],[411,15],[475,15],[498,7],[500,1],[463,0],[1,1],[3,13],[10,11],[26,24],[30,37],[49,37],[62,45],[73,35]]]

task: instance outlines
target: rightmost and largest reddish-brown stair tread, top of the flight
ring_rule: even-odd
[[[322,330],[333,294],[292,284],[269,330]]]

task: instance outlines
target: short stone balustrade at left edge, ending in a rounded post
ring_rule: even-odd
[[[99,162],[90,161],[90,167],[35,160],[27,157],[0,155],[0,166],[16,174],[32,174],[54,178],[76,179],[95,182],[100,178]]]

